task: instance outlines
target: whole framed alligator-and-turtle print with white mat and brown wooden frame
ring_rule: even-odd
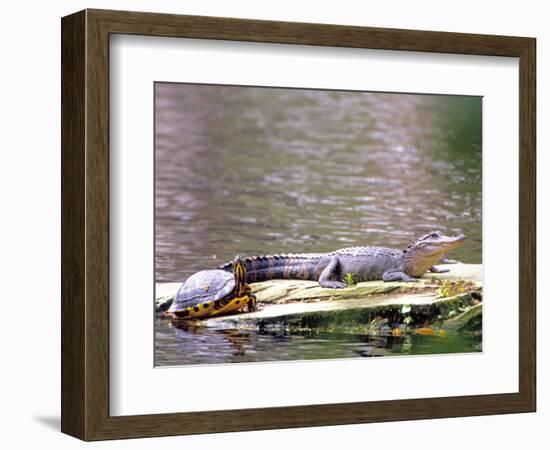
[[[62,431],[535,410],[535,39],[62,19]]]

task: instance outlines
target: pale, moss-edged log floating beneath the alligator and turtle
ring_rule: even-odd
[[[418,282],[370,281],[325,289],[314,281],[270,280],[251,285],[258,311],[201,321],[215,328],[355,330],[365,327],[481,327],[482,266],[453,264]],[[170,306],[180,283],[156,286],[157,311]],[[452,295],[449,295],[452,294]]]

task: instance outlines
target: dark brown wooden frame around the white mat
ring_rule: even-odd
[[[62,30],[62,415],[85,440],[535,411],[534,38],[85,10]],[[519,392],[109,415],[109,36],[137,34],[519,58]],[[505,276],[505,275],[503,275]]]

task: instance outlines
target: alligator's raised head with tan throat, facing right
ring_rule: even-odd
[[[445,236],[432,231],[410,244],[403,250],[405,272],[411,277],[421,277],[443,257],[445,253],[464,243],[464,235]]]

